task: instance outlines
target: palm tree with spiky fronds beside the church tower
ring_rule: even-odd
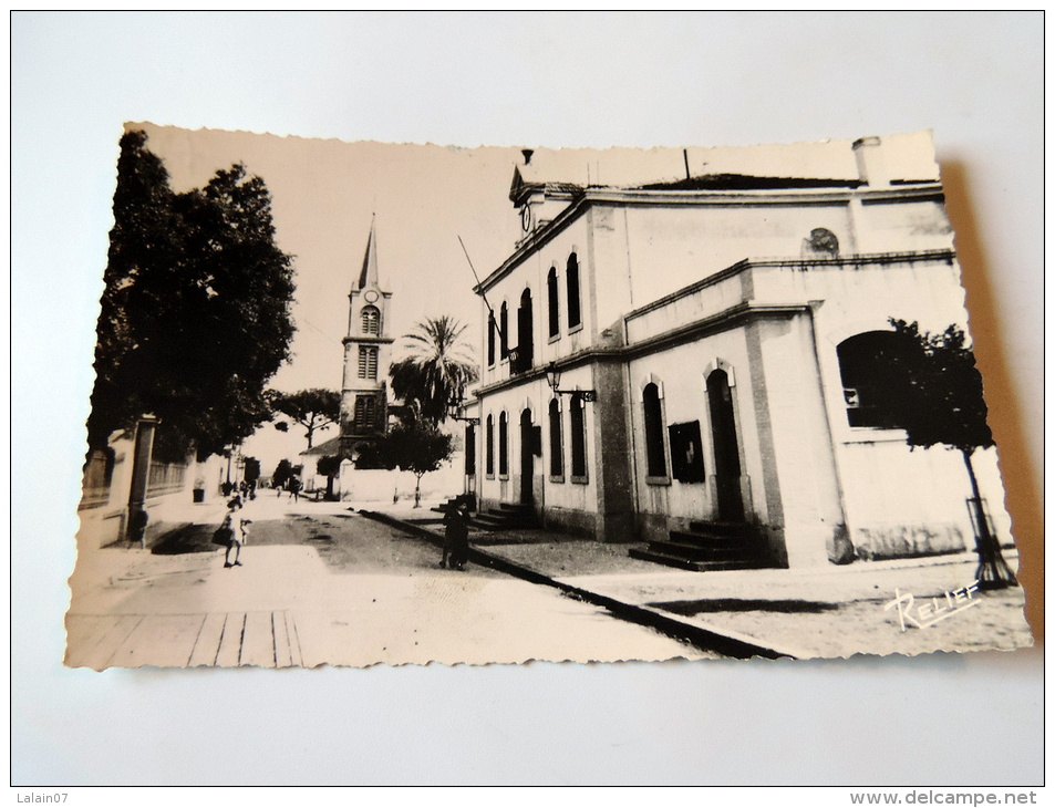
[[[434,424],[446,419],[447,404],[478,379],[472,349],[462,340],[466,328],[446,314],[426,318],[404,334],[408,355],[389,370],[396,397]]]

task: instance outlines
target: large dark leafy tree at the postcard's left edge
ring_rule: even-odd
[[[175,194],[146,135],[126,133],[104,282],[91,448],[153,413],[158,456],[204,458],[270,417],[265,386],[289,358],[294,286],[262,179],[236,165]]]

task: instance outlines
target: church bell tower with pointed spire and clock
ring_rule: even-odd
[[[371,221],[363,268],[348,296],[348,336],[342,340],[341,450],[345,457],[358,455],[358,444],[384,434],[387,426],[386,380],[394,341],[386,335],[391,298],[377,278],[377,237]]]

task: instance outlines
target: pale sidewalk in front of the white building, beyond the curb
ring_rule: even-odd
[[[382,519],[441,541],[432,517],[384,510]],[[601,545],[546,530],[470,534],[478,563],[497,566],[594,602],[675,636],[751,656],[848,656],[933,651],[1010,650],[1032,645],[1021,588],[971,593],[973,605],[924,629],[902,631],[899,595],[945,604],[970,587],[973,552],[859,561],[808,570],[691,572],[632,559],[634,545]],[[1012,569],[1017,553],[1004,550]],[[933,600],[931,600],[933,599]],[[902,601],[908,603],[908,601]]]

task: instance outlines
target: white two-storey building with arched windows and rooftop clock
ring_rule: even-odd
[[[910,450],[869,385],[891,318],[966,327],[937,166],[885,147],[856,142],[854,177],[637,188],[528,155],[524,239],[477,287],[480,506],[602,541],[743,525],[775,566],[973,547],[962,457]],[[995,452],[974,458],[1006,538]]]

